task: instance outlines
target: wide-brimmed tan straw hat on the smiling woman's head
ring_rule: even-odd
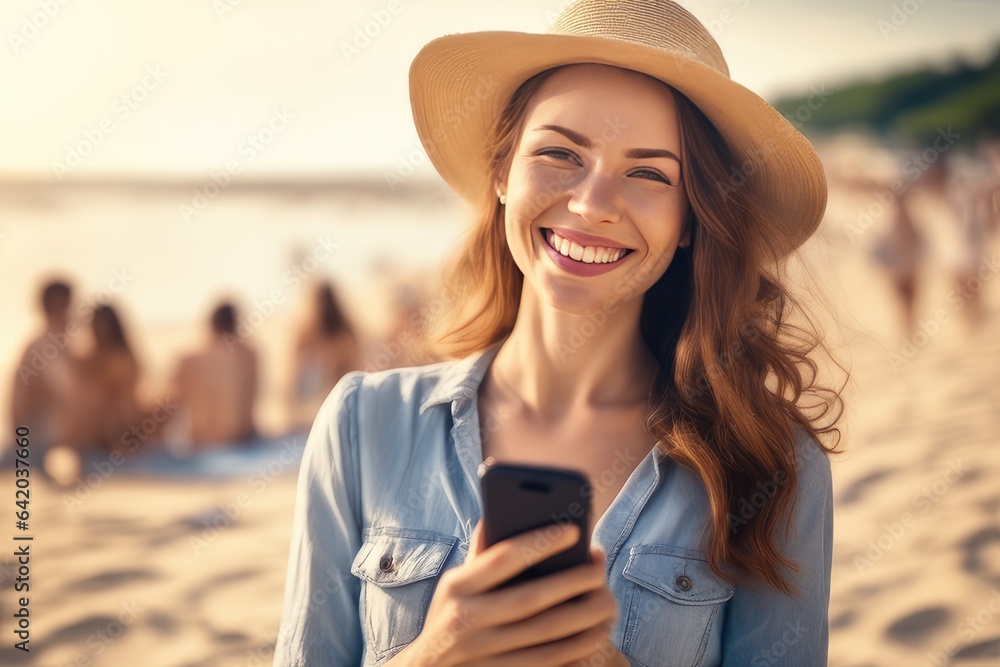
[[[413,121],[431,163],[456,192],[477,202],[490,188],[487,140],[518,86],[572,63],[643,72],[697,105],[736,158],[719,194],[750,188],[780,227],[773,238],[782,254],[816,230],[826,208],[826,177],[813,147],[729,78],[705,26],[670,0],[578,0],[545,34],[458,33],[425,45],[410,66]]]

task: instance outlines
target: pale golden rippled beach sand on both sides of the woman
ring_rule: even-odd
[[[986,321],[971,332],[929,264],[919,320],[948,318],[904,341],[887,283],[843,233],[856,204],[831,200],[808,251],[846,325],[840,353],[853,374],[846,451],[833,463],[830,665],[996,665],[1000,280],[980,286]],[[8,528],[0,664],[269,665],[297,463],[201,480],[89,469],[69,489],[33,477],[31,651],[12,648]],[[14,484],[2,471],[8,527]]]

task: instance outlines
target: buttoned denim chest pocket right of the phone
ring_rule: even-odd
[[[697,667],[723,603],[735,589],[704,554],[679,547],[632,547],[622,576],[632,582],[623,649],[646,667]]]

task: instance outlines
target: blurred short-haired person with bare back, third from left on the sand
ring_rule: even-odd
[[[182,425],[171,440],[184,449],[248,444],[257,435],[257,352],[237,335],[236,320],[232,304],[219,304],[208,341],[178,362],[171,395]]]

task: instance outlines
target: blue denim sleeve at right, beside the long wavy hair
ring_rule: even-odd
[[[830,461],[812,436],[796,430],[800,449],[794,532],[779,540],[778,548],[799,566],[798,573],[786,570],[797,595],[763,590],[763,584],[737,587],[726,605],[724,667],[827,664],[833,558]]]

